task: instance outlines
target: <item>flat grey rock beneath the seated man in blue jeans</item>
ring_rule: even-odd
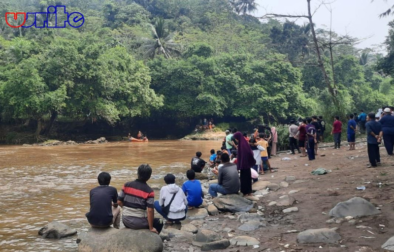
[[[216,197],[212,200],[215,207],[222,212],[249,212],[253,208],[254,203],[244,199],[238,194],[228,194]]]

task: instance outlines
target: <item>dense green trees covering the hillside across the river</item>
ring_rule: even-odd
[[[370,49],[334,48],[334,74],[327,71],[337,106],[313,64],[311,27],[260,22],[254,0],[5,0],[0,14],[60,3],[83,13],[85,24],[12,29],[0,19],[0,117],[35,120],[37,135],[57,117],[110,125],[161,117],[193,127],[203,116],[272,114],[283,122],[394,101],[391,78],[375,70],[394,72],[393,22],[389,55],[377,66]],[[329,65],[328,51],[323,56]]]

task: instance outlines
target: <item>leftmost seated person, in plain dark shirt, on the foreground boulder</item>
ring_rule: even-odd
[[[90,210],[85,215],[92,227],[119,228],[120,207],[117,204],[118,191],[110,187],[111,175],[101,172],[97,177],[99,186],[90,190]]]

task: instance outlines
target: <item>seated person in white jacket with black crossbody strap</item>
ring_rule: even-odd
[[[188,200],[185,193],[180,187],[175,185],[175,176],[167,174],[164,177],[166,186],[160,189],[159,200],[156,200],[154,205],[156,211],[166,220],[166,225],[172,225],[174,222],[180,224],[180,221],[186,219],[188,211]],[[165,213],[164,207],[169,205],[169,212]]]

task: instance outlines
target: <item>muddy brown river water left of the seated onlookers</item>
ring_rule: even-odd
[[[152,166],[149,185],[164,185],[173,173],[181,185],[197,151],[209,159],[220,141],[113,142],[50,147],[0,146],[0,251],[77,251],[76,236],[42,239],[38,230],[50,221],[87,231],[89,190],[101,171],[111,174],[119,190],[136,178],[139,164]],[[156,192],[158,197],[158,191]]]

